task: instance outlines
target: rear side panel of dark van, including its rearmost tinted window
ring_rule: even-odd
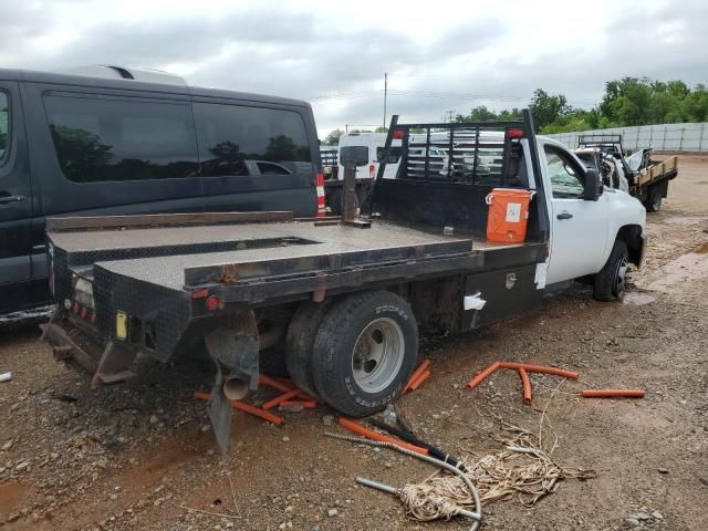
[[[315,215],[319,145],[304,107],[195,96],[192,108],[207,211]]]

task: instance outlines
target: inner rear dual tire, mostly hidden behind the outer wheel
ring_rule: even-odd
[[[332,299],[324,302],[305,301],[298,306],[285,334],[285,365],[290,378],[302,391],[319,398],[312,378],[312,347],[320,323],[332,308]]]

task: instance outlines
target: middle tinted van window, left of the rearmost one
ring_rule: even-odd
[[[197,176],[197,140],[188,104],[45,95],[64,176],[74,183]]]

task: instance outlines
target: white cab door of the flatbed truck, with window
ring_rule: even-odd
[[[585,169],[568,150],[543,145],[544,179],[550,185],[551,256],[546,283],[592,274],[602,269],[610,221],[606,197],[583,199]]]

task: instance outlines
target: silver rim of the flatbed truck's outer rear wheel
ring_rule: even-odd
[[[384,391],[396,379],[404,354],[405,340],[398,323],[388,317],[372,321],[354,344],[354,382],[366,393]]]

